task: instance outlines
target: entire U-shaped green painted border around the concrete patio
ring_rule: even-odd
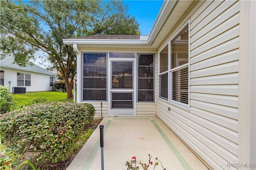
[[[113,118],[114,120],[118,120],[118,118]],[[108,122],[106,123],[104,127],[104,136],[108,130],[108,127],[113,119],[108,119]],[[191,166],[188,164],[188,162],[183,158],[183,156],[180,154],[180,152],[175,148],[175,146],[172,144],[172,142],[169,140],[169,138],[164,134],[162,129],[157,125],[157,123],[152,118],[120,118],[119,120],[125,120],[125,119],[134,119],[134,120],[141,120],[141,119],[148,119],[150,120],[153,125],[156,127],[166,144],[169,146],[169,148],[172,150],[172,153],[176,156],[180,164],[185,170],[192,170]],[[98,137],[98,140],[96,141],[94,147],[92,148],[92,151],[90,152],[88,158],[86,159],[84,166],[82,167],[82,170],[89,170],[92,166],[92,162],[96,156],[96,153],[98,151],[98,148],[100,147],[100,137]]]

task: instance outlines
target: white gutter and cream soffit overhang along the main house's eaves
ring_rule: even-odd
[[[156,18],[149,36],[140,36],[140,40],[96,40],[63,39],[67,45],[76,44],[77,48],[135,48],[157,49],[170,30],[186,12],[193,0],[166,0]]]

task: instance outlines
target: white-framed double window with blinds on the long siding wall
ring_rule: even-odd
[[[188,59],[189,59],[189,43],[188,43],[188,24],[186,24],[171,40],[170,40],[170,56],[168,55],[168,45],[159,53],[160,57],[160,94],[159,97],[188,107]],[[170,67],[168,64],[170,60]],[[169,78],[169,79],[168,79]],[[168,87],[170,86],[168,91]],[[168,98],[168,96],[170,98]]]

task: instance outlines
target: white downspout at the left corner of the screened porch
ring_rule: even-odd
[[[76,44],[73,44],[73,49],[76,52],[76,99],[75,99],[75,89],[74,89],[74,101],[77,103],[81,102],[81,53],[77,48]],[[75,81],[74,81],[75,83]]]

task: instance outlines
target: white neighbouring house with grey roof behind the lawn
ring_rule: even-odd
[[[6,56],[0,60],[1,85],[10,87],[14,93],[14,87],[23,87],[26,92],[51,91],[52,83],[55,82],[55,74],[34,64],[21,67],[14,64],[12,56]],[[18,90],[17,90],[18,89]],[[16,88],[19,92],[21,88]]]

